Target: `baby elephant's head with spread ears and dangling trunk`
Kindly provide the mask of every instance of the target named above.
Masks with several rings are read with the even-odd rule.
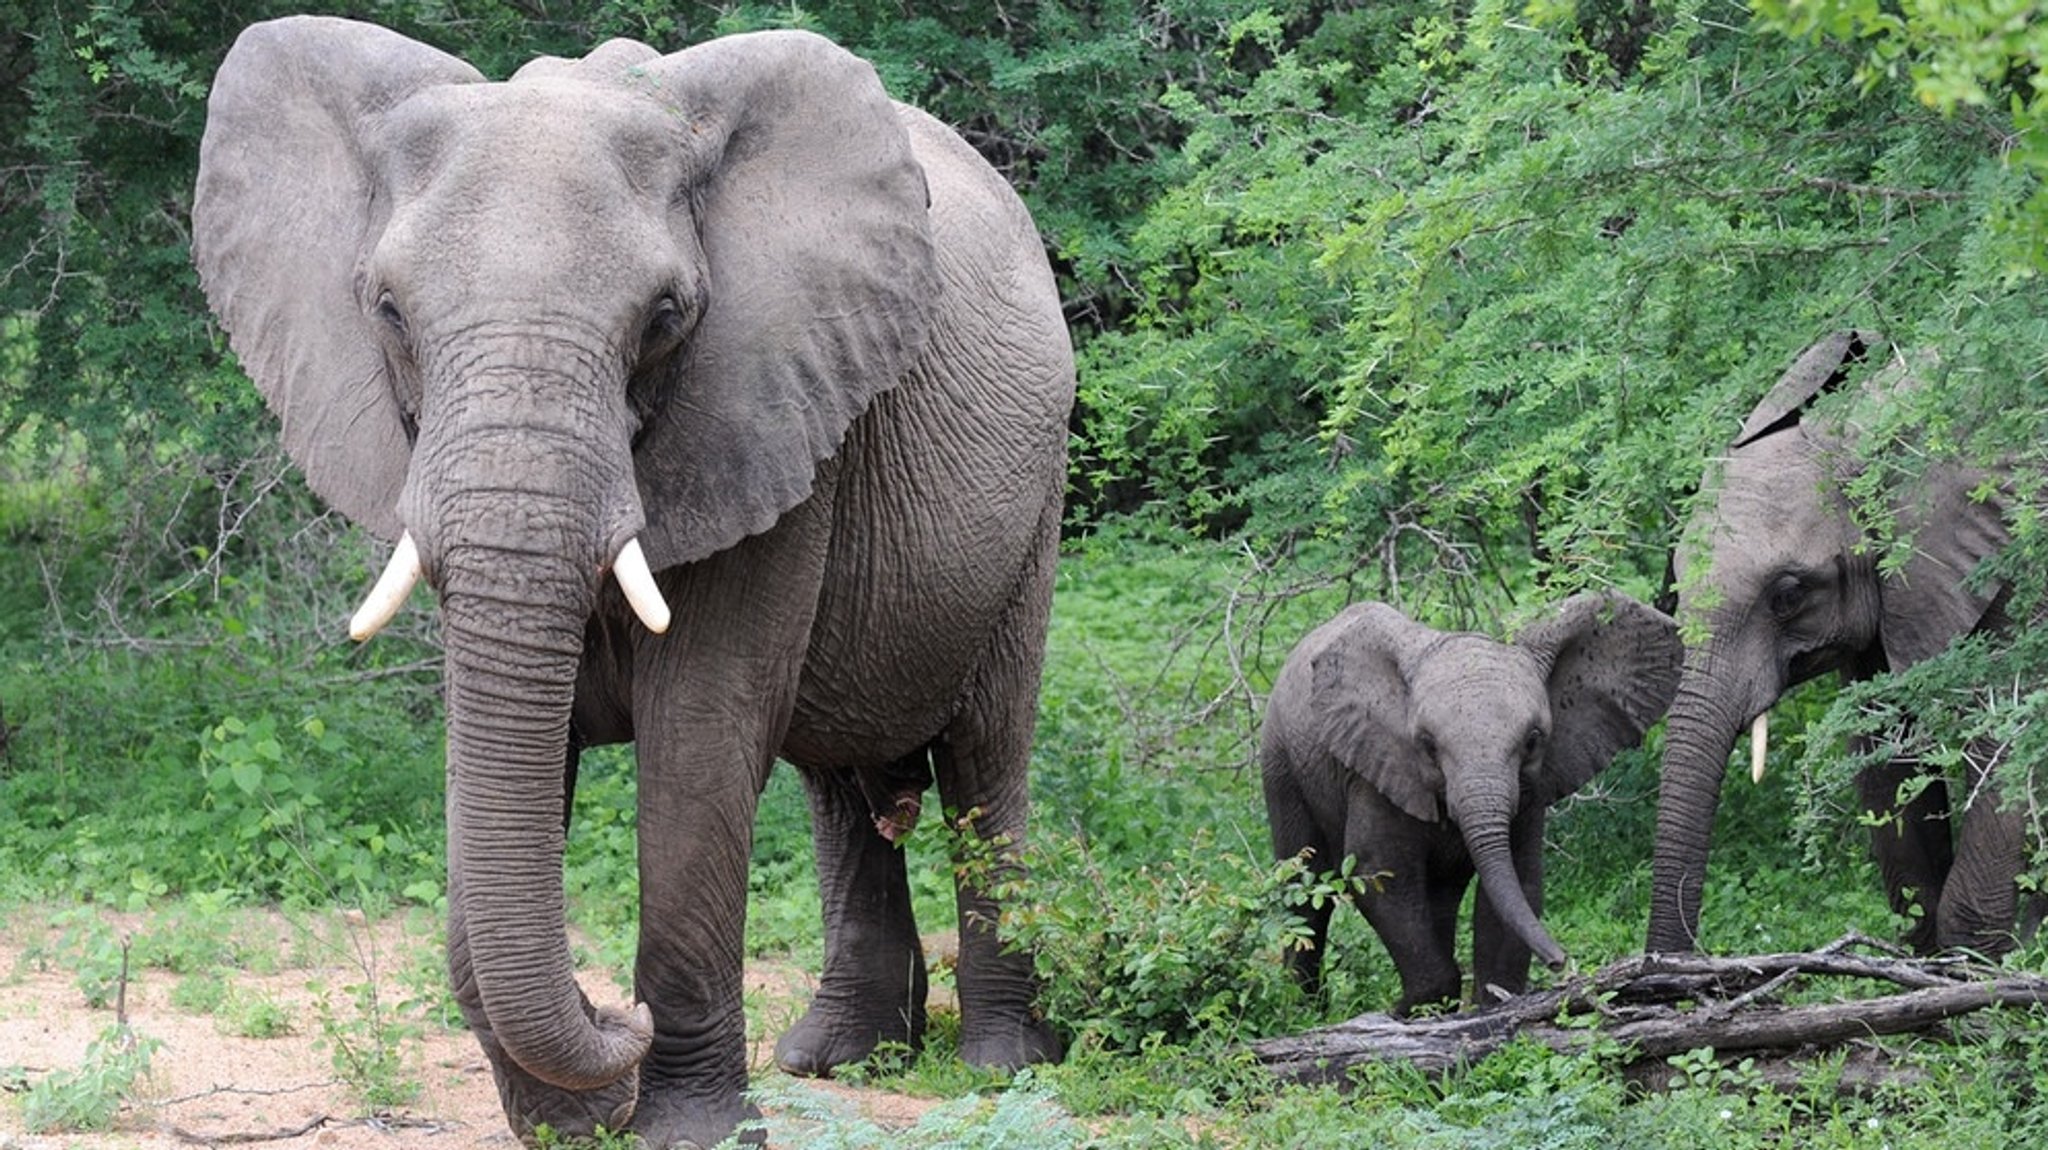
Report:
[[[1563,964],[1524,894],[1532,876],[1516,870],[1509,827],[1657,722],[1677,685],[1675,624],[1618,593],[1575,595],[1513,643],[1440,632],[1384,604],[1339,622],[1311,649],[1315,741],[1407,816],[1456,823],[1501,923]]]

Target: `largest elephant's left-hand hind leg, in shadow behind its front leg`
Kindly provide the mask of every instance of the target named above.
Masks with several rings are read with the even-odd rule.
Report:
[[[928,753],[879,771],[891,796],[930,778]],[[776,1042],[776,1064],[823,1076],[885,1042],[924,1042],[926,968],[911,915],[903,849],[874,825],[868,788],[848,771],[805,769],[817,888],[825,911],[825,972],[803,1019]]]

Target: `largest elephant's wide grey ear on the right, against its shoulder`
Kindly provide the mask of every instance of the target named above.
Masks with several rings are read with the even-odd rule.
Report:
[[[940,289],[924,170],[874,70],[811,33],[618,74],[692,149],[711,299],[635,450],[655,567],[772,526],[924,350]]]

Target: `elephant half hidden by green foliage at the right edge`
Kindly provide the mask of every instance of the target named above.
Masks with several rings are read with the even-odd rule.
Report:
[[[1860,370],[1862,368],[1862,370]],[[1821,395],[1868,374],[1847,413],[1821,415]],[[1876,336],[1841,331],[1808,348],[1743,424],[1718,491],[1675,552],[1679,620],[1706,640],[1688,649],[1665,724],[1663,782],[1651,878],[1649,949],[1698,943],[1708,837],[1737,737],[1751,728],[1757,769],[1765,714],[1794,685],[1825,671],[1862,679],[1903,669],[1954,638],[2007,626],[2007,589],[1972,571],[2005,546],[1999,499],[1974,497],[1987,475],[1931,465],[1898,493],[1896,526],[1913,552],[1896,573],[1876,565],[1882,544],[1858,526],[1843,483],[1855,471],[1853,428],[1872,403],[1913,387],[1909,360]],[[1708,473],[1716,483],[1716,473]],[[1706,561],[1706,571],[1698,565]],[[1956,808],[1933,780],[1907,804],[1901,784],[1919,765],[1896,759],[1860,776],[1878,816],[1872,847],[1898,913],[1917,913],[1919,949],[1966,945],[1999,954],[2013,943],[2021,816],[1978,794]],[[1976,794],[1982,778],[1968,780]],[[1913,790],[1913,788],[1907,788]]]

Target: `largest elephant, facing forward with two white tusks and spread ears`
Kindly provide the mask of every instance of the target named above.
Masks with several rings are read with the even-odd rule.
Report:
[[[1001,178],[815,35],[612,41],[494,84],[307,16],[219,70],[193,248],[313,489],[399,540],[352,630],[420,575],[438,593],[449,968],[512,1127],[670,1146],[741,1119],[778,755],[825,906],[780,1060],[915,1042],[924,960],[877,827],[936,769],[1022,841],[1065,483],[1073,358]],[[641,1003],[596,1009],[563,935],[563,767],[629,739]],[[1057,1056],[987,890],[958,906],[965,1058]]]

